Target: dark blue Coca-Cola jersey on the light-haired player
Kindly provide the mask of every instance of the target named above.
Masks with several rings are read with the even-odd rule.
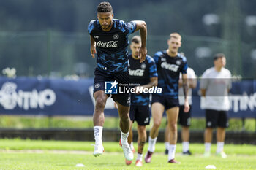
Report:
[[[178,98],[179,74],[187,74],[187,58],[180,53],[170,57],[166,50],[157,52],[153,58],[157,64],[157,86],[162,88],[162,93],[157,95]]]

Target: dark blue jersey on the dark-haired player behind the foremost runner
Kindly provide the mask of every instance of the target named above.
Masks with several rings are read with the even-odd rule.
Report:
[[[129,59],[129,80],[132,84],[146,85],[151,77],[157,77],[157,66],[154,59],[146,55],[146,60],[140,60],[128,56]],[[131,105],[148,106],[149,93],[131,94]]]

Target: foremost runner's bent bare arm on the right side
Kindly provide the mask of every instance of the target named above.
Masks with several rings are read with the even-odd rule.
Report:
[[[140,55],[140,63],[145,61],[147,55],[147,48],[146,48],[146,39],[147,39],[147,25],[143,20],[133,20],[136,23],[136,30],[140,30],[140,37],[141,37],[141,47],[139,51]]]

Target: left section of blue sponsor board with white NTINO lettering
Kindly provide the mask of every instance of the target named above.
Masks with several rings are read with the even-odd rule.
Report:
[[[92,90],[93,79],[0,77],[0,114],[91,116],[94,112]],[[105,114],[118,115],[115,109],[106,109]]]

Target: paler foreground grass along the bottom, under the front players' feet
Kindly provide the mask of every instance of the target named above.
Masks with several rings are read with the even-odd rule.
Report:
[[[217,169],[256,169],[256,156],[229,155],[222,159],[212,156],[203,158],[201,155],[184,157],[176,156],[179,165],[167,163],[167,156],[156,154],[151,163],[143,163],[138,168],[134,163],[130,166],[124,164],[122,153],[104,153],[98,158],[91,154],[35,154],[35,153],[1,153],[1,169],[205,169],[214,165]],[[75,167],[83,163],[85,167]]]

